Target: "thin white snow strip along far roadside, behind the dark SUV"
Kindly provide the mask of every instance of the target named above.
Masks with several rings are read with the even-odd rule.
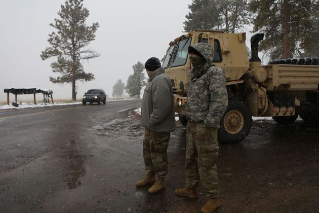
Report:
[[[134,99],[114,99],[114,100],[106,100],[107,102],[111,101],[120,101],[120,100],[134,100]],[[19,107],[14,107],[12,103],[10,105],[2,105],[0,106],[0,110],[9,110],[9,109],[26,109],[26,108],[38,108],[38,107],[53,107],[53,106],[61,106],[61,105],[74,105],[74,104],[82,104],[82,102],[71,102],[71,103],[65,103],[65,102],[55,102],[53,103],[27,103],[22,102],[19,104]]]

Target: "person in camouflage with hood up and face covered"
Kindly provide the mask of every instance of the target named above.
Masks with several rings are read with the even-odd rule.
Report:
[[[226,111],[228,95],[223,70],[212,65],[214,48],[206,43],[189,47],[193,66],[189,70],[187,85],[186,126],[186,188],[175,192],[196,198],[196,187],[201,181],[206,189],[208,202],[202,212],[213,212],[219,205],[217,180],[219,121]]]

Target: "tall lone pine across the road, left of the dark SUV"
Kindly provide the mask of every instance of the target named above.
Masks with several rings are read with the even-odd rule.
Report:
[[[82,60],[98,57],[99,54],[87,48],[90,42],[95,40],[95,32],[99,24],[86,24],[89,17],[88,9],[83,7],[83,0],[68,0],[61,5],[58,12],[59,19],[50,26],[56,31],[49,34],[50,47],[42,51],[41,58],[46,60],[55,57],[56,61],[51,63],[52,71],[60,73],[57,78],[50,77],[53,83],[71,83],[72,99],[76,100],[76,81],[94,80],[92,73],[85,73]]]

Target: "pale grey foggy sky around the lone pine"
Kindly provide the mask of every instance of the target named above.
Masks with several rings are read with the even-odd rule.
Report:
[[[49,26],[65,0],[0,1],[0,101],[6,101],[5,88],[52,89],[54,99],[71,99],[71,84],[53,84],[49,76],[53,58],[43,61],[41,51],[49,46]],[[90,88],[109,95],[118,79],[126,84],[132,66],[149,57],[162,58],[170,41],[183,33],[183,21],[192,0],[86,0],[88,23],[98,22],[96,40],[89,47],[100,57],[84,61],[85,72],[95,75],[91,82],[77,82],[77,98]],[[25,96],[25,97],[24,97]],[[31,95],[19,95],[32,100]],[[41,94],[37,95],[41,98]],[[10,101],[14,95],[10,95]]]

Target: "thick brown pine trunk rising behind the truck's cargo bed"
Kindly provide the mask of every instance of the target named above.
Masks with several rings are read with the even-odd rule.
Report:
[[[284,0],[284,10],[283,10],[283,57],[284,58],[292,58],[292,53],[290,50],[290,13],[291,8],[289,5],[289,0]]]

